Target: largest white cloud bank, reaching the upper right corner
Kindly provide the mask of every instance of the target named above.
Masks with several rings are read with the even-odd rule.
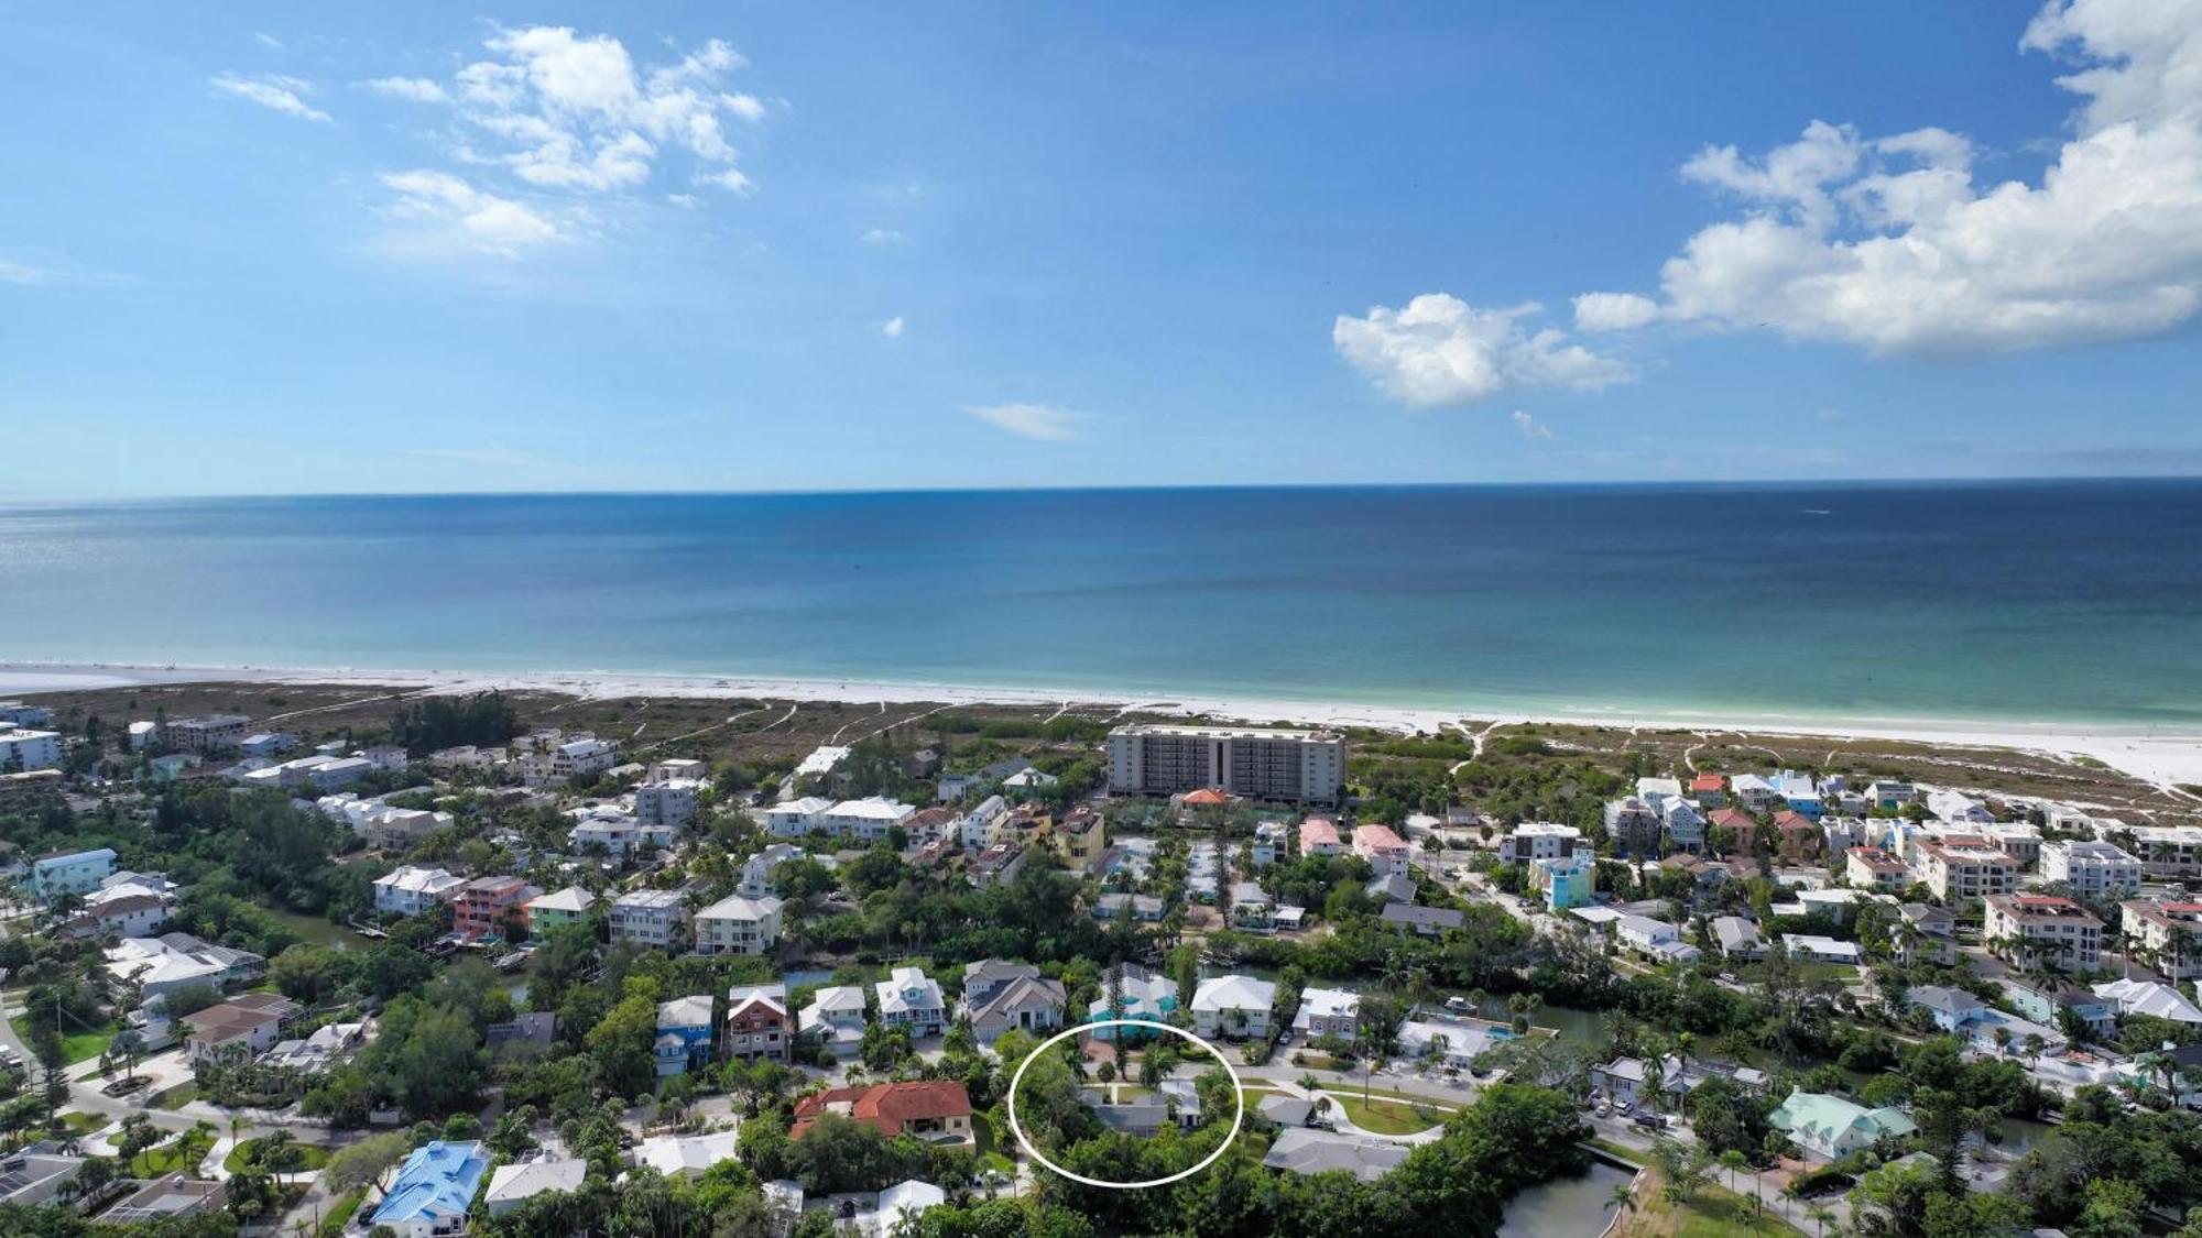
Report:
[[[1577,297],[1585,328],[1770,326],[1878,355],[1986,355],[2165,330],[2202,306],[2202,0],[2050,0],[2026,51],[2068,55],[2074,132],[2039,183],[1973,181],[1962,134],[1812,121],[1682,174],[1740,196],[1649,297]],[[1588,306],[1588,317],[1585,317]]]

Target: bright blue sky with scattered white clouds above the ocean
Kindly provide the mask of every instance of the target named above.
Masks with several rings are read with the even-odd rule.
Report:
[[[0,498],[2202,474],[2202,2],[1341,9],[0,2]]]

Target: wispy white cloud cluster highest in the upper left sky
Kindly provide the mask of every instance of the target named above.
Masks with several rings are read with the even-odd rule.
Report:
[[[495,59],[467,64],[449,88],[438,86],[480,130],[482,150],[469,145],[476,159],[531,185],[599,194],[645,183],[667,150],[685,150],[698,163],[696,183],[738,194],[753,187],[720,119],[757,121],[764,104],[720,90],[744,64],[724,42],[647,70],[617,37],[573,26],[498,29],[482,46]],[[383,82],[414,88],[412,79]]]

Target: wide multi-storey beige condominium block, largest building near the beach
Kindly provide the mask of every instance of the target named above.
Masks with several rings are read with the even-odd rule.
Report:
[[[1345,738],[1337,731],[1132,723],[1108,734],[1108,789],[1176,795],[1222,786],[1251,800],[1337,804]]]

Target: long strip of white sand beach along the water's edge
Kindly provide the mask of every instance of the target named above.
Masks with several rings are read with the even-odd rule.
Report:
[[[148,663],[15,663],[0,661],[0,694],[88,692],[163,683],[319,683],[390,685],[434,694],[482,689],[557,692],[581,698],[617,696],[760,696],[777,701],[839,701],[850,705],[1103,705],[1119,712],[1231,718],[1249,723],[1293,723],[1315,727],[1374,727],[1387,731],[1438,731],[1462,723],[1486,725],[1583,725],[1654,731],[1704,731],[1746,736],[1810,736],[1830,740],[1896,740],[1951,747],[1988,747],[2070,760],[2099,760],[2121,773],[2171,789],[2202,782],[2202,731],[2140,725],[2083,723],[1993,723],[1964,718],[1784,718],[1711,716],[1660,712],[1566,712],[1508,707],[1409,707],[1352,705],[1337,701],[1288,701],[1262,696],[1158,696],[1110,689],[971,687],[947,683],[771,678],[738,674],[636,674],[636,672],[467,672],[399,667],[264,667],[264,665],[148,665]]]

